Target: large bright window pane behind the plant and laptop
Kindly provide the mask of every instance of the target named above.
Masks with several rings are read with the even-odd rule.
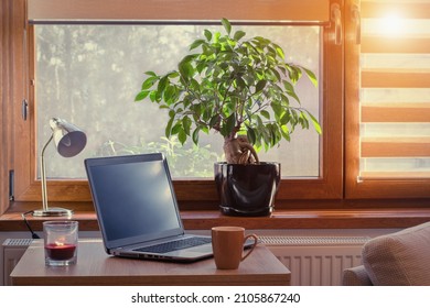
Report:
[[[87,133],[78,156],[63,158],[45,152],[51,178],[84,178],[83,160],[100,155],[164,152],[175,178],[213,177],[213,162],[223,161],[219,135],[201,135],[200,148],[190,141],[164,138],[168,114],[158,106],[133,102],[143,73],[176,68],[189,45],[207,25],[35,25],[37,153],[49,139],[49,119],[63,118]],[[214,26],[215,28],[215,26]],[[284,48],[289,61],[320,74],[318,26],[243,26],[247,36],[267,36]],[[223,31],[219,29],[219,31]],[[320,80],[320,85],[322,80]],[[303,107],[318,117],[319,89],[303,79],[298,85]],[[319,135],[297,130],[292,142],[260,153],[278,161],[282,175],[319,176]]]

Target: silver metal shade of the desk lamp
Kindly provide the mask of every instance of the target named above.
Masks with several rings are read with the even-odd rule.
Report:
[[[87,136],[77,127],[57,118],[52,118],[50,125],[60,155],[73,157],[84,150],[87,144]]]

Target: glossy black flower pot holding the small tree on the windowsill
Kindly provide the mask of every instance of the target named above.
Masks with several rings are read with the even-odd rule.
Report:
[[[215,163],[219,209],[227,216],[269,216],[281,178],[279,163],[238,165]]]

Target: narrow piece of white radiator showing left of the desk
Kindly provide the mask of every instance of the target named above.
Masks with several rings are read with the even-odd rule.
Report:
[[[10,286],[10,273],[24,254],[32,239],[7,239],[2,245],[3,254],[3,285]]]

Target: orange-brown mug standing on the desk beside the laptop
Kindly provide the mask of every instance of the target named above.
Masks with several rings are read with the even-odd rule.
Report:
[[[245,242],[252,238],[254,244],[244,255]],[[247,258],[258,242],[256,234],[245,235],[241,227],[214,227],[212,228],[212,248],[216,268],[236,270],[239,263]]]

